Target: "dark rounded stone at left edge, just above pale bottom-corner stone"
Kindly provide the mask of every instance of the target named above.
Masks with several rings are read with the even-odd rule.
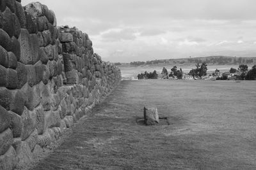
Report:
[[[12,130],[10,128],[0,133],[0,155],[3,155],[8,151],[12,145],[13,137]]]

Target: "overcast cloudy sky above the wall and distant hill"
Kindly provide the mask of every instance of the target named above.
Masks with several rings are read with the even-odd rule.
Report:
[[[22,0],[22,6],[31,3]],[[110,62],[256,57],[255,0],[42,0]]]

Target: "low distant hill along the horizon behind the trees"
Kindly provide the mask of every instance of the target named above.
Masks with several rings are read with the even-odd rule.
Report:
[[[127,63],[116,63],[116,65],[130,65],[130,66],[146,66],[146,65],[184,65],[189,66],[196,63],[206,62],[209,65],[237,65],[237,64],[256,64],[256,57],[228,57],[228,56],[208,56],[208,57],[195,57],[184,59],[161,59],[149,61],[134,61]]]

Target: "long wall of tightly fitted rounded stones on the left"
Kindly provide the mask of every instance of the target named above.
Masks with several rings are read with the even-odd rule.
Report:
[[[32,161],[120,80],[47,6],[0,0],[0,169]]]

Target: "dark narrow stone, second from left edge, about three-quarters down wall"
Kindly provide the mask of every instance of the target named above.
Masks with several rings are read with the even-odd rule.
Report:
[[[13,138],[19,138],[22,129],[22,118],[13,111],[8,111],[8,113],[11,118],[10,129],[12,129]]]

